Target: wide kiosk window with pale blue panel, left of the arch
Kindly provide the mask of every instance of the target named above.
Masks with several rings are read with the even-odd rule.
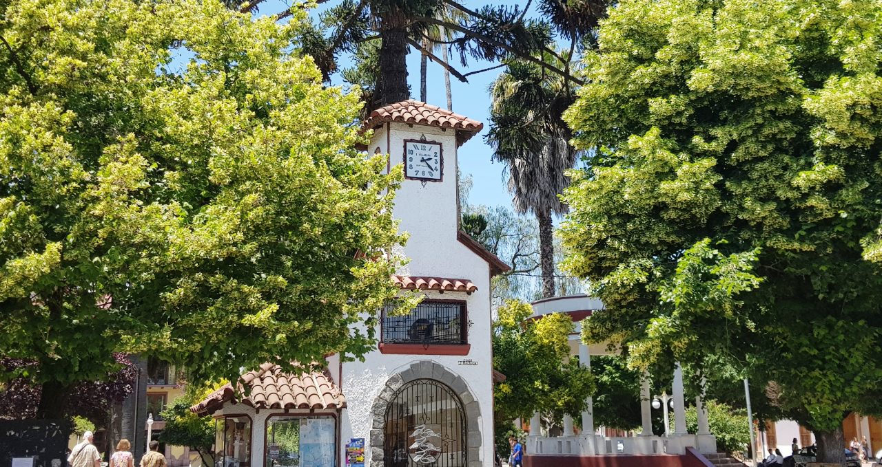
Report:
[[[336,467],[337,419],[273,416],[266,420],[265,467]]]

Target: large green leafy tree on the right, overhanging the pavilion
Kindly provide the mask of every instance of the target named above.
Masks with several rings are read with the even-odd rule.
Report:
[[[584,337],[696,378],[725,357],[823,462],[849,412],[882,411],[880,15],[626,0],[565,115],[591,167],[565,196],[567,267],[607,307]]]

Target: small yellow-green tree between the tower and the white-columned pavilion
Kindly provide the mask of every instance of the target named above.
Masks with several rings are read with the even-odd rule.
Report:
[[[533,308],[517,300],[497,310],[493,367],[507,376],[494,392],[497,425],[527,419],[534,411],[578,416],[594,392],[587,367],[569,358],[570,317],[553,314],[527,321],[532,313]]]

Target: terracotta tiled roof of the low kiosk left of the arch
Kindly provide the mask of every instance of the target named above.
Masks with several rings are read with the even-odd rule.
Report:
[[[290,374],[278,365],[265,363],[257,371],[250,371],[240,378],[240,391],[244,385],[250,387],[248,397],[238,401],[256,409],[338,409],[346,407],[346,397],[334,384],[331,374],[323,373]],[[200,415],[213,413],[224,403],[233,400],[234,391],[230,384],[209,394],[190,410]]]

